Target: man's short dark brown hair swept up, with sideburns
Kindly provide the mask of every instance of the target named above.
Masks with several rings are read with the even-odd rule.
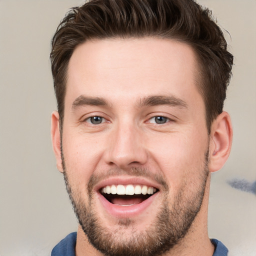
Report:
[[[179,40],[193,48],[210,132],[212,120],[222,112],[233,56],[211,11],[193,0],[89,0],[72,8],[57,27],[50,53],[60,127],[67,65],[75,47],[90,39],[146,36]]]

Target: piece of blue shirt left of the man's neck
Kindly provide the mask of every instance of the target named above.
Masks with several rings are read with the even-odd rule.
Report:
[[[76,232],[68,234],[51,251],[51,256],[75,256]]]

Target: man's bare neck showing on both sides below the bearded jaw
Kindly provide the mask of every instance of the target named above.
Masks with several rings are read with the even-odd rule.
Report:
[[[186,235],[165,256],[212,256],[214,246],[210,242],[207,230],[207,210],[210,186],[210,174],[208,176],[201,208],[197,213]],[[81,226],[78,226],[75,255],[103,256],[88,241]]]

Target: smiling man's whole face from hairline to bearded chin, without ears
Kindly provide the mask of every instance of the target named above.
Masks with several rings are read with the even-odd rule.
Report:
[[[89,241],[109,255],[168,250],[198,212],[208,175],[192,49],[167,39],[87,41],[67,74],[62,165]]]

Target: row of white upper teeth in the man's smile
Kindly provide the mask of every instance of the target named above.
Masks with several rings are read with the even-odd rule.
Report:
[[[153,194],[156,188],[146,185],[107,185],[102,187],[101,192],[107,194]]]

